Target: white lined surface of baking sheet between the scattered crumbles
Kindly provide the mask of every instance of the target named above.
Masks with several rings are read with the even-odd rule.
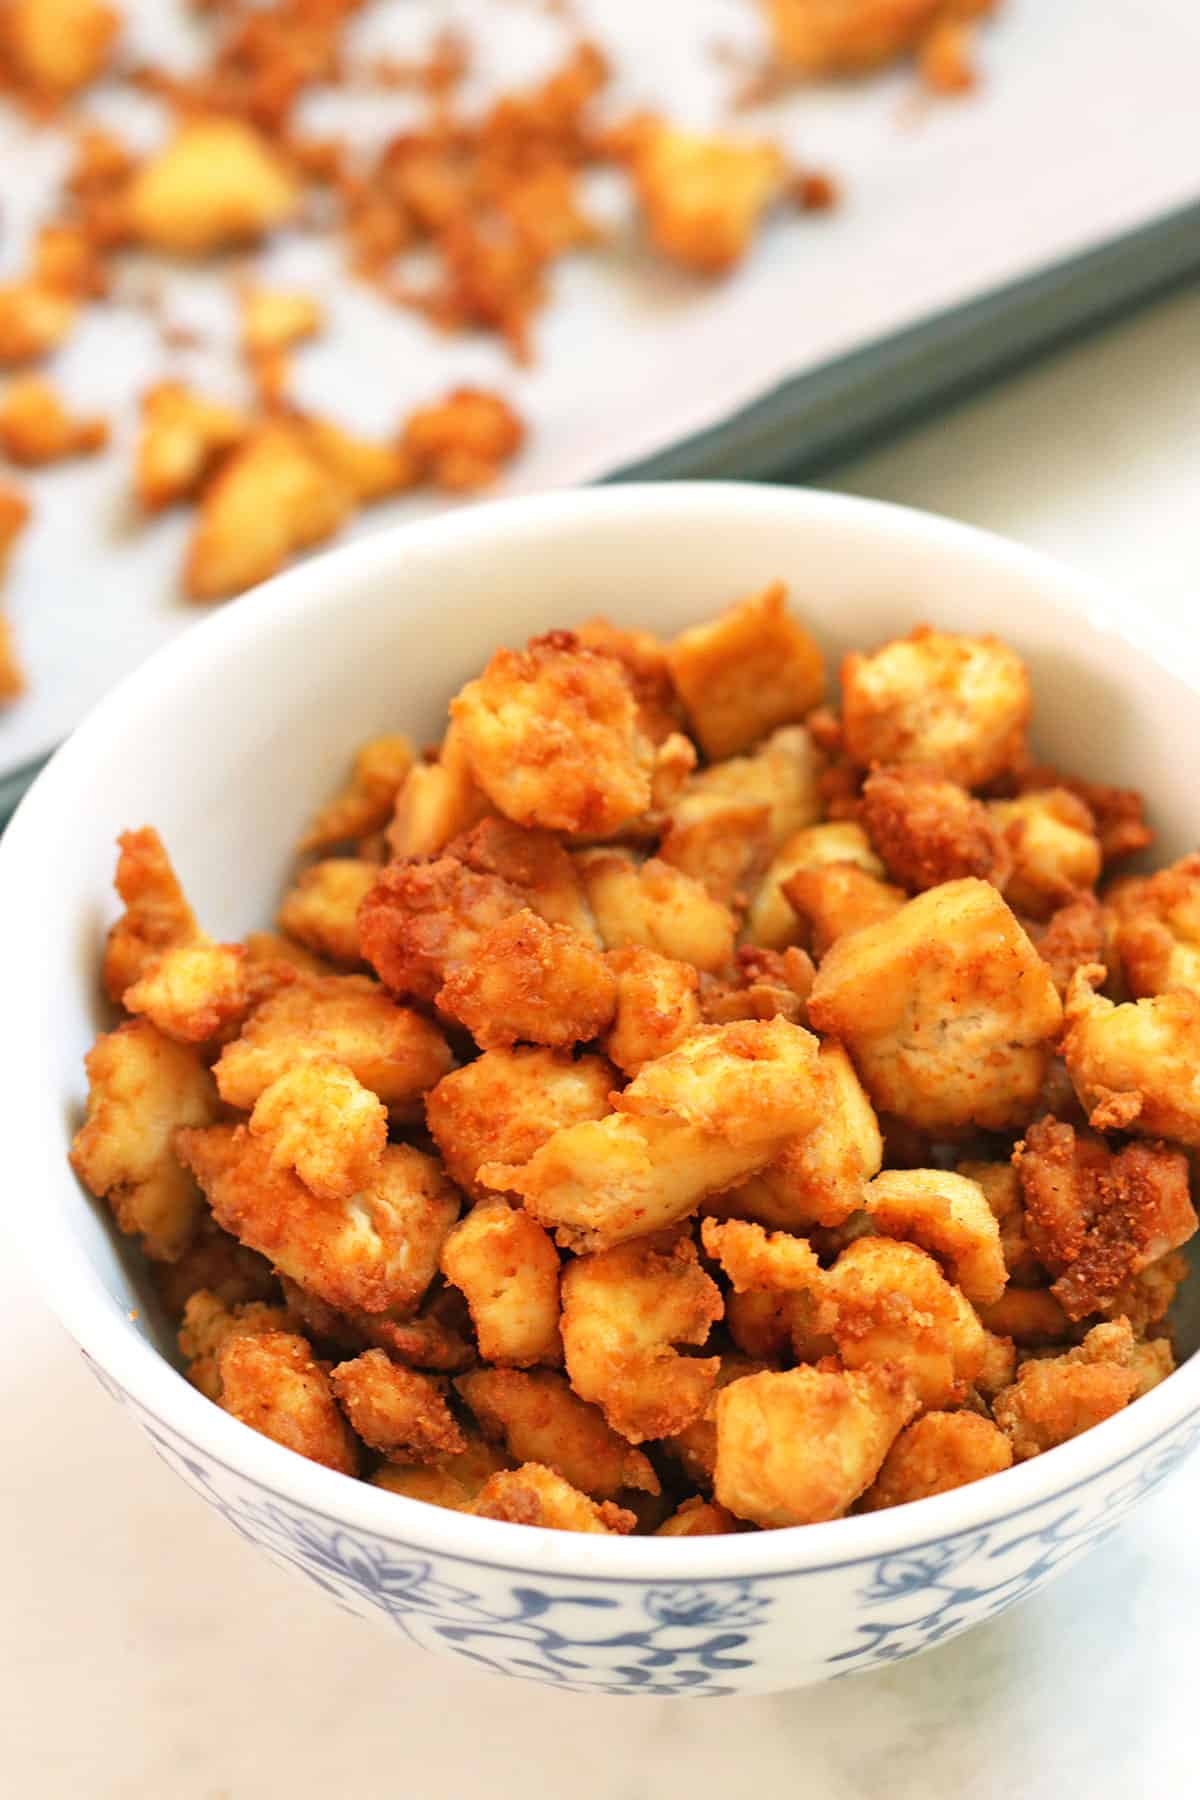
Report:
[[[126,0],[124,11],[139,56],[187,67],[200,27],[180,0]],[[761,43],[752,0],[581,0],[576,14],[612,52],[617,108],[655,106],[694,124],[727,112],[738,76],[725,52],[748,58]],[[480,97],[536,77],[567,41],[565,27],[533,0],[378,0],[354,27],[351,56],[365,63],[380,50],[416,52],[448,23],[477,43]],[[648,459],[671,473],[703,468],[705,455],[711,466],[723,421],[745,418],[748,407],[752,418],[763,396],[905,333],[921,335],[925,380],[936,385],[939,365],[954,362],[954,320],[970,315],[963,308],[975,308],[984,337],[993,328],[1002,335],[1004,315],[988,311],[988,295],[1027,288],[1031,270],[1097,250],[1200,198],[1200,18],[1191,0],[1007,0],[981,56],[982,86],[964,101],[925,99],[910,70],[896,70],[743,115],[738,128],[768,131],[799,162],[835,173],[844,205],[828,216],[781,214],[720,284],[648,257],[622,184],[597,176],[588,198],[612,241],[603,254],[560,265],[529,371],[486,338],[441,337],[349,283],[336,243],[288,234],[255,268],[320,293],[329,310],[324,340],[297,355],[295,398],[387,432],[452,383],[500,387],[531,428],[500,490],[520,493]],[[349,128],[363,146],[401,124],[408,106],[365,90],[308,104],[315,128]],[[139,144],[164,128],[157,106],[108,88],[88,110]],[[54,133],[0,119],[4,256],[13,268],[23,225],[59,167]],[[1106,277],[1099,261],[1090,266],[1083,279],[1094,302]],[[237,394],[228,275],[137,266],[126,275],[130,288],[155,279],[171,319],[203,333],[200,347],[166,351],[146,313],[103,306],[88,310],[52,362],[72,403],[112,416],[115,446],[103,459],[27,479],[34,522],[5,603],[31,693],[0,720],[0,770],[49,749],[113,680],[196,617],[176,589],[191,517],[182,509],[140,522],[128,499],[128,461],[135,396],[149,382],[178,374]],[[887,360],[882,367],[887,380]],[[775,439],[788,423],[775,407]],[[754,463],[745,443],[743,452]],[[462,502],[405,497],[362,515],[349,535],[446,504]]]

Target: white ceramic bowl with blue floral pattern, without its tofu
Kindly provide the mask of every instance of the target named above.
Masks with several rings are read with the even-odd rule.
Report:
[[[831,664],[927,619],[1029,659],[1042,756],[1144,788],[1196,835],[1182,652],[1052,563],[919,513],[795,490],[608,488],[381,533],[171,644],[59,751],[0,844],[9,1204],[108,1393],[245,1537],[345,1609],[475,1665],[612,1694],[748,1694],[909,1656],[1074,1561],[1200,1436],[1200,1357],[1074,1442],[973,1487],[831,1525],[608,1539],[464,1517],[333,1474],[191,1388],[139,1264],[67,1150],[103,1012],[113,839],[160,828],[207,929],[266,923],[291,844],[365,736],[437,734],[498,643],[592,612],[671,634],[781,576]],[[1184,1332],[1187,1350],[1200,1334]],[[169,1337],[162,1337],[167,1345]],[[47,1427],[50,1429],[50,1427]],[[56,1426],[58,1429],[58,1426]],[[86,1494],[81,1496],[86,1507]]]

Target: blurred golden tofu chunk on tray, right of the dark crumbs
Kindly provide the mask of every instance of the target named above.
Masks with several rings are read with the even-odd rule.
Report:
[[[637,122],[630,167],[651,243],[702,275],[741,261],[786,180],[775,144],[682,131],[662,119]]]

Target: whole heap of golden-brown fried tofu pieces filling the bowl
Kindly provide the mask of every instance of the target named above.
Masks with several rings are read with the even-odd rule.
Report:
[[[311,531],[300,427],[236,441],[218,481],[277,457]],[[838,713],[775,583],[497,650],[437,749],[362,745],[273,932],[214,943],[128,832],[72,1161],[196,1388],[410,1499],[691,1537],[984,1480],[1169,1375],[1200,859],[1112,878],[1141,797],[1038,769],[1033,698],[921,628]]]

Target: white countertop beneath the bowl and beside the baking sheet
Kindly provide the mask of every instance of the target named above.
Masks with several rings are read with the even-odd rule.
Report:
[[[1006,531],[1187,623],[1198,346],[1189,293],[837,486]],[[27,1204],[9,1190],[13,1217]],[[1195,1782],[1200,1458],[1058,1584],[916,1661],[768,1699],[617,1703],[464,1674],[275,1570],[155,1460],[9,1256],[0,1350],[4,1793],[1135,1800]]]

